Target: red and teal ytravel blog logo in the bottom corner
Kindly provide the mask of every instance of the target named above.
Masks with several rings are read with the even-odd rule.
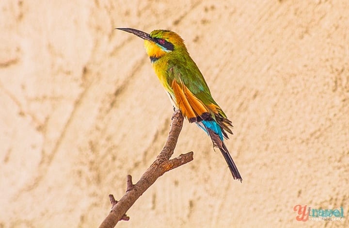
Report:
[[[307,205],[302,206],[298,204],[293,207],[293,211],[297,212],[297,221],[306,222],[308,220],[313,221],[344,221],[343,207],[340,209],[314,209]]]

